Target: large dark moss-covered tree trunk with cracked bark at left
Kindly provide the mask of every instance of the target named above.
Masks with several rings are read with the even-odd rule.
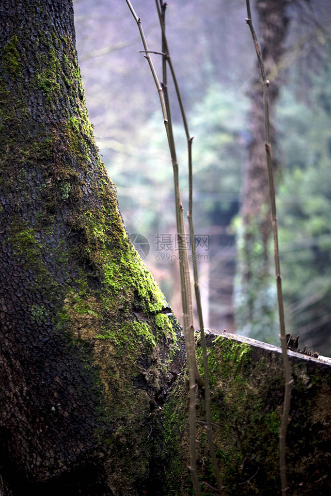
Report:
[[[2,1],[0,54],[1,476],[142,494],[178,327],[95,145],[72,2]]]

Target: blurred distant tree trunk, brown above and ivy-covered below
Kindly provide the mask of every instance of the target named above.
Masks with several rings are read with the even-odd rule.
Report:
[[[284,54],[284,41],[289,19],[289,0],[257,0],[259,37],[267,74],[271,73],[269,90],[270,113],[279,92],[277,64]],[[252,50],[254,47],[252,45]],[[251,139],[248,146],[248,167],[244,171],[241,205],[242,231],[239,235],[239,274],[236,326],[238,332],[258,339],[275,339],[276,287],[271,283],[269,240],[271,234],[270,193],[265,151],[264,104],[261,74],[256,63],[256,77],[249,91],[251,110],[248,117]],[[273,132],[272,132],[273,136]],[[273,145],[275,140],[273,140]],[[273,148],[275,150],[275,147]],[[276,172],[275,155],[273,157]]]

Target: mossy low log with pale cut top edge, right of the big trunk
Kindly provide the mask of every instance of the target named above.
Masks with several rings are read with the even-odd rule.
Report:
[[[209,371],[217,456],[227,496],[280,495],[278,431],[284,379],[280,348],[222,332],[210,334]],[[198,345],[202,366],[202,352]],[[291,496],[331,491],[331,359],[289,351],[294,385],[286,439]],[[188,378],[184,370],[159,419],[157,478],[163,496],[193,495],[188,472]],[[216,494],[198,393],[198,474],[203,495]]]

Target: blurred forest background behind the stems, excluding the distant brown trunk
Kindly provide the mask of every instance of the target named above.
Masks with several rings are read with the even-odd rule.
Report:
[[[160,51],[154,2],[135,0],[134,7],[150,49]],[[139,53],[137,27],[124,1],[74,0],[74,12],[90,121],[117,186],[124,224],[180,320],[172,168],[158,95]],[[330,355],[330,1],[288,2],[286,16],[284,56],[274,66],[269,61],[279,81],[273,121],[285,316],[287,330],[300,336],[300,347]],[[226,328],[278,344],[273,263],[267,291],[264,286],[259,292],[254,284],[248,290],[249,298],[259,301],[250,319],[240,271],[245,249],[256,260],[263,256],[262,245],[257,241],[245,247],[241,234],[243,176],[251,167],[250,87],[256,77],[245,17],[244,1],[169,1],[167,36],[194,136],[193,217],[201,241],[198,265],[206,328]],[[161,75],[161,57],[155,56],[154,62]],[[172,87],[169,91],[175,102]],[[172,118],[185,211],[186,139],[176,105]]]

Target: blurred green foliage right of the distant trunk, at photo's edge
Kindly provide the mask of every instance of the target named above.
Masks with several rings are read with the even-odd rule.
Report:
[[[282,279],[288,328],[331,354],[331,64],[314,76],[309,101],[289,89],[278,105],[286,157],[278,194]],[[286,132],[290,129],[291,132]]]

